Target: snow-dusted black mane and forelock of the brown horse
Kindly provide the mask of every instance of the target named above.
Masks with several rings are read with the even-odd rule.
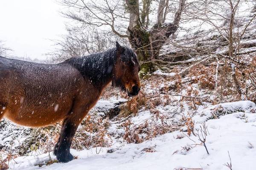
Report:
[[[134,51],[125,46],[121,48],[122,50],[119,51],[121,54],[118,54],[120,49],[111,48],[107,51],[88,56],[73,57],[65,62],[69,62],[79,70],[84,78],[88,77],[92,83],[101,87],[113,78],[113,67],[116,64],[117,55],[120,55],[120,59],[125,65],[137,65],[140,67]]]

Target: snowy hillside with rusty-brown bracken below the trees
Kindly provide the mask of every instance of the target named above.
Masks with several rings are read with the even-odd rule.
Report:
[[[253,170],[256,20],[239,43],[239,60],[230,59],[212,31],[178,34],[163,47],[158,70],[142,77],[138,96],[106,89],[73,139],[76,159],[65,164],[52,155],[60,123],[34,129],[3,119],[1,168]]]

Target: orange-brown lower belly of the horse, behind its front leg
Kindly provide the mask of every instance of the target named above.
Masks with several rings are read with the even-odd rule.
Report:
[[[72,108],[72,102],[32,102],[24,99],[17,103],[9,103],[4,117],[23,126],[41,127],[53,125],[63,120]]]

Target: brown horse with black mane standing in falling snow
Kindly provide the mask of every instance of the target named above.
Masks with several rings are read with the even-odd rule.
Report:
[[[70,145],[80,122],[112,81],[135,96],[140,65],[131,48],[116,48],[49,65],[0,57],[0,120],[41,127],[63,120],[54,154],[73,159]]]

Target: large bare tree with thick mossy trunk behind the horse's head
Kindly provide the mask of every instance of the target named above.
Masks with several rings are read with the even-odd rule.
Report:
[[[62,14],[80,27],[94,26],[128,38],[141,61],[144,72],[153,71],[160,48],[177,31],[186,0],[61,0],[68,7]],[[166,22],[173,14],[173,22]],[[174,14],[175,13],[175,14]],[[154,17],[155,16],[155,17]],[[152,24],[153,23],[153,24]]]

